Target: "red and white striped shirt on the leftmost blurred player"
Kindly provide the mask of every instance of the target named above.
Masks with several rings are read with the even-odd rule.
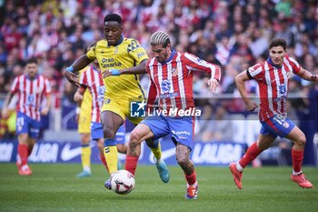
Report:
[[[18,94],[16,111],[40,121],[40,106],[44,96],[51,93],[51,86],[45,76],[37,75],[33,80],[27,75],[16,76],[11,93]]]

